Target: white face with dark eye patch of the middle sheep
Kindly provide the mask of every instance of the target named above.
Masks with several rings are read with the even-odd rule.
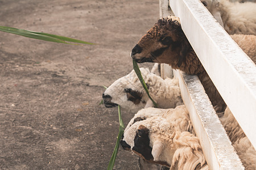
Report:
[[[143,74],[150,74],[149,70],[142,68],[141,71]],[[144,108],[148,99],[134,70],[110,85],[102,94],[102,98],[107,108],[120,105],[121,108],[133,113]]]

